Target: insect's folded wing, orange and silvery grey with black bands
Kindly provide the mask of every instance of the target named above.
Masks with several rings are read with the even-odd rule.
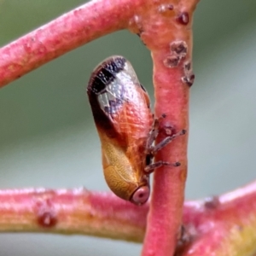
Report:
[[[148,93],[130,62],[114,56],[92,74],[88,95],[96,126],[123,146],[148,137],[153,117]]]

